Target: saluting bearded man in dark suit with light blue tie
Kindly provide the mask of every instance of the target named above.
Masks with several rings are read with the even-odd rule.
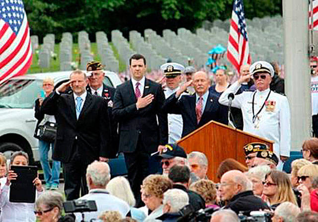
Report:
[[[42,104],[42,110],[55,115],[57,136],[53,159],[63,163],[64,191],[67,200],[87,193],[86,168],[94,160],[109,157],[109,120],[105,99],[86,92],[87,77],[77,70],[70,81],[61,84]],[[69,86],[72,94],[61,94]]]

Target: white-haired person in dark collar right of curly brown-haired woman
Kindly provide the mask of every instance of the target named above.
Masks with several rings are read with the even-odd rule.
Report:
[[[181,214],[179,211],[189,204],[188,194],[180,189],[170,189],[163,194],[163,215],[158,220],[176,222]]]

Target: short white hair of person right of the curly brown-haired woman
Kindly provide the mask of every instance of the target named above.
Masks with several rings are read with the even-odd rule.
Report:
[[[169,189],[163,194],[162,204],[169,205],[169,213],[176,213],[189,204],[189,196],[180,189]]]

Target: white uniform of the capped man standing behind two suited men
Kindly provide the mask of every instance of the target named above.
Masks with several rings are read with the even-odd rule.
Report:
[[[168,98],[172,93],[176,92],[179,87],[174,90],[169,89],[168,87],[164,90],[165,98]],[[181,94],[182,95],[182,94]],[[179,97],[179,99],[181,96]],[[182,134],[183,121],[182,116],[179,114],[168,114],[168,143],[174,144],[181,138]]]

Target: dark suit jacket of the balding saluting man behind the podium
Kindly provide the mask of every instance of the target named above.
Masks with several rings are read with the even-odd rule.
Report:
[[[164,101],[162,109],[167,113],[181,114],[183,120],[182,137],[211,120],[228,124],[226,107],[221,106],[218,98],[210,92],[199,123],[197,123],[197,116],[195,114],[196,94],[182,95],[179,98],[176,98],[175,93],[173,93]]]

